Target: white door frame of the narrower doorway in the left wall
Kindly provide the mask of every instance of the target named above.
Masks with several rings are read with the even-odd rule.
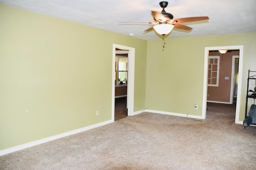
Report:
[[[135,48],[113,44],[112,61],[112,121],[115,119],[115,61],[116,49],[128,51],[128,84],[127,84],[127,108],[128,116],[134,115],[134,67],[135,67]]]

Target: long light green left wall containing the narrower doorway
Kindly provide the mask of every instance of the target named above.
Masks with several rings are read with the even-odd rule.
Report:
[[[0,150],[110,120],[113,43],[135,48],[145,108],[147,41],[3,4],[0,25]]]

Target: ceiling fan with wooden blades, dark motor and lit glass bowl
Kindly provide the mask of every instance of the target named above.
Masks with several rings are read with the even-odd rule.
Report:
[[[160,35],[163,35],[163,40],[165,38],[165,35],[170,33],[173,28],[183,29],[183,30],[187,30],[187,31],[192,30],[191,27],[182,25],[180,23],[209,20],[208,16],[173,19],[173,15],[170,13],[167,13],[164,10],[164,8],[167,7],[168,2],[162,1],[159,4],[163,8],[162,12],[151,11],[155,22],[147,22],[147,23],[155,24],[155,25],[146,29],[144,32],[147,33],[148,31],[155,29],[157,33],[159,33]],[[165,45],[165,43],[164,43],[164,45]]]

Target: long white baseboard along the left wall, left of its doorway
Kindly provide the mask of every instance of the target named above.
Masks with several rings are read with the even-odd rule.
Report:
[[[66,133],[61,133],[59,135],[55,135],[55,136],[52,136],[52,137],[47,137],[47,138],[40,139],[40,140],[37,140],[37,141],[25,143],[23,145],[19,145],[19,146],[16,146],[16,147],[0,150],[0,156],[2,156],[4,154],[11,153],[11,152],[15,152],[15,151],[18,151],[18,150],[22,150],[22,149],[26,149],[26,148],[29,148],[29,147],[33,147],[33,146],[36,146],[36,145],[39,145],[39,144],[42,144],[42,143],[46,143],[46,142],[49,142],[49,141],[53,141],[55,139],[59,139],[59,138],[66,137],[66,136],[69,136],[69,135],[74,135],[76,133],[87,131],[87,130],[90,130],[90,129],[93,129],[93,128],[96,128],[96,127],[100,127],[100,126],[103,126],[103,125],[106,125],[106,124],[109,124],[109,123],[112,123],[112,122],[113,122],[112,120],[104,121],[104,122],[101,122],[101,123],[97,123],[95,125],[90,125],[90,126],[87,126],[87,127],[76,129],[74,131],[69,131],[69,132],[66,132]]]

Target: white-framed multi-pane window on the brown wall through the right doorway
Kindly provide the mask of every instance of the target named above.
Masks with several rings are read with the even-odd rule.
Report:
[[[220,56],[208,57],[208,86],[219,86]]]

